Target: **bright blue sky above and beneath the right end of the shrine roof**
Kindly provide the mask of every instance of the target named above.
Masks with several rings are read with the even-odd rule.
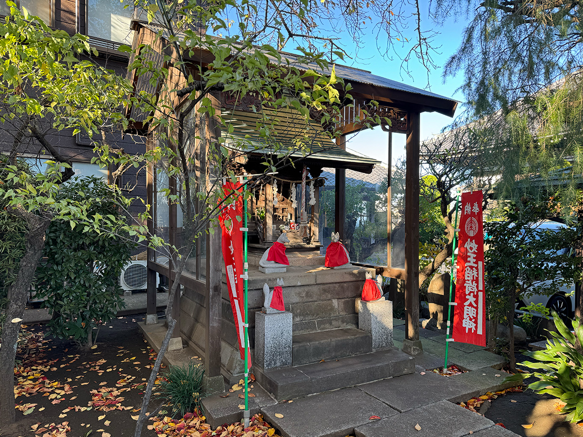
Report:
[[[407,73],[401,69],[401,59],[399,59],[398,56],[389,53],[390,57],[393,58],[391,60],[387,59],[387,56],[383,56],[378,51],[376,33],[371,34],[370,40],[366,41],[364,48],[361,48],[358,57],[354,59],[346,59],[347,62],[345,62],[345,64],[370,71],[378,76],[388,77],[389,79],[408,83],[421,89],[431,90],[433,93],[441,94],[445,97],[452,97],[463,102],[462,94],[459,91],[456,92],[456,89],[461,85],[463,73],[458,73],[455,77],[445,78],[445,83],[442,73],[445,62],[447,62],[448,58],[457,50],[461,43],[463,29],[466,26],[465,20],[458,20],[456,22],[456,20],[450,18],[443,24],[443,26],[434,26],[434,24],[427,18],[427,2],[422,0],[422,3],[425,5],[425,28],[427,29],[428,27],[433,26],[433,29],[438,32],[438,35],[434,37],[433,41],[433,45],[438,47],[438,53],[433,55],[433,61],[438,68],[432,69],[429,72],[429,86],[427,84],[427,70],[419,61],[417,61],[417,58],[412,58],[408,62],[410,75],[412,76],[409,77]],[[403,46],[401,46],[401,43],[398,41],[395,41],[399,44],[398,53],[401,54],[402,57],[409,51],[410,46],[415,44],[415,33],[413,32],[413,29],[411,29],[410,34],[410,42],[405,43]],[[342,33],[340,33],[340,36],[342,36]],[[346,38],[346,40],[347,39],[349,38]],[[352,45],[347,45],[346,50],[350,55],[353,55],[354,47]],[[456,115],[459,114],[461,110],[462,108],[460,104],[458,105]],[[445,115],[434,112],[423,113],[421,115],[421,139],[430,138],[436,133],[439,133],[442,128],[450,124],[452,121],[452,118]],[[363,131],[350,139],[347,146],[359,153],[386,162],[387,135],[388,134],[382,132],[380,128]],[[399,135],[398,137],[404,137],[404,135]],[[402,145],[399,143],[404,143],[404,139],[394,138],[394,147],[397,149],[394,150],[394,158],[395,154],[399,154],[398,150],[402,149]]]

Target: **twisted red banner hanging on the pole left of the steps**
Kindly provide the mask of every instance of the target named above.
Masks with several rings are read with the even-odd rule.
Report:
[[[227,181],[223,185],[223,195],[226,198],[231,193],[238,191],[234,195],[236,199],[229,204],[219,216],[219,224],[222,230],[222,248],[224,267],[227,272],[227,287],[231,299],[231,309],[235,319],[237,329],[237,339],[239,341],[239,353],[241,360],[245,359],[245,337],[244,337],[244,317],[245,302],[243,298],[243,279],[241,275],[245,273],[243,269],[243,231],[241,231],[241,220],[243,220],[243,196],[241,195],[240,184]],[[249,344],[249,342],[247,342]],[[248,366],[251,368],[251,355],[248,353]]]

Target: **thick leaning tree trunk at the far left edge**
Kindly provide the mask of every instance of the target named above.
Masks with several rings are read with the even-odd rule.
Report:
[[[16,281],[12,286],[12,298],[6,310],[6,322],[2,329],[0,347],[0,425],[13,423],[15,416],[14,401],[14,362],[16,358],[16,343],[20,331],[20,322],[12,323],[13,319],[22,319],[26,295],[34,279],[38,261],[43,255],[45,232],[51,223],[50,218],[37,216],[29,218],[29,230],[26,235],[26,252],[20,260]],[[12,381],[10,383],[10,381]]]

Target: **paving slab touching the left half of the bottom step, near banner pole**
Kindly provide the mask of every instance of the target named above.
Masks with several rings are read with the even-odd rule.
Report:
[[[262,408],[261,413],[284,437],[345,437],[355,427],[370,422],[372,415],[385,418],[398,414],[356,388],[303,397]]]

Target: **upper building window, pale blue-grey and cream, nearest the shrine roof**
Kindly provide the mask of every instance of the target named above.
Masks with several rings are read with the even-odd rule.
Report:
[[[132,44],[134,31],[129,29],[134,7],[124,9],[120,0],[88,0],[87,29],[89,36],[116,43]]]

